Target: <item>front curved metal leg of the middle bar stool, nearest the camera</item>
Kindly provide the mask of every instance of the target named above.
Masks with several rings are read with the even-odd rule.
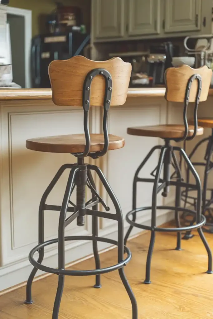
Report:
[[[151,238],[150,238],[148,255],[147,255],[147,262],[146,262],[146,279],[144,280],[144,284],[151,284],[150,269],[151,269],[152,253],[153,253],[154,244],[155,244],[155,229],[154,228],[156,227],[157,188],[158,188],[160,174],[161,174],[163,163],[164,163],[164,157],[165,157],[166,150],[167,150],[166,147],[161,148],[160,157],[159,157],[159,161],[158,161],[158,165],[157,165],[156,176],[155,176],[155,182],[154,182],[154,186],[153,186],[153,192],[152,192],[151,226],[153,227],[153,230],[151,231]]]

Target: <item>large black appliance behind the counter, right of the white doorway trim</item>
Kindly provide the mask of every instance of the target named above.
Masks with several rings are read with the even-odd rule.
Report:
[[[38,35],[32,40],[31,73],[34,88],[50,88],[48,67],[53,60],[66,60],[84,55],[90,41],[89,34],[79,32],[49,33]]]

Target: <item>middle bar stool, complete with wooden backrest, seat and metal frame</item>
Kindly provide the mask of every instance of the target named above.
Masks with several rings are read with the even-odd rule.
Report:
[[[133,209],[128,212],[126,215],[127,222],[131,225],[125,236],[125,245],[126,241],[132,231],[133,226],[147,229],[151,231],[151,239],[148,249],[147,263],[146,263],[146,278],[144,283],[150,284],[150,267],[151,267],[151,258],[155,243],[156,232],[177,232],[177,247],[176,250],[181,250],[181,232],[187,230],[197,229],[201,237],[201,240],[208,253],[208,270],[207,273],[212,273],[212,254],[209,248],[209,245],[204,237],[202,232],[202,226],[205,224],[206,219],[201,215],[201,182],[199,175],[194,169],[191,161],[189,160],[186,152],[179,146],[172,146],[171,141],[181,142],[184,140],[192,140],[196,135],[203,134],[203,128],[198,127],[197,123],[197,108],[199,101],[205,101],[209,92],[209,85],[211,80],[212,71],[208,69],[207,66],[204,66],[199,69],[192,69],[187,65],[183,65],[179,68],[169,68],[165,72],[166,80],[166,93],[165,99],[171,102],[182,102],[184,103],[183,111],[183,122],[184,125],[156,125],[156,126],[145,126],[145,127],[133,127],[128,128],[127,133],[130,135],[137,136],[149,136],[149,137],[160,137],[164,139],[164,145],[154,146],[145,159],[142,161],[141,165],[136,170],[133,180]],[[187,107],[189,102],[195,102],[194,106],[194,125],[188,126],[187,123]],[[151,173],[154,178],[139,178],[138,174],[146,164],[148,159],[151,157],[154,151],[160,150],[159,161],[156,169]],[[189,168],[189,171],[193,174],[195,179],[195,184],[187,184],[183,182],[181,169],[179,167],[179,161],[175,154],[175,151],[182,156],[185,160],[186,165]],[[176,180],[171,179],[170,168],[171,165],[175,168]],[[163,178],[161,178],[161,172],[163,170]],[[156,171],[156,173],[155,173]],[[172,174],[174,178],[174,174]],[[136,206],[136,195],[137,195],[137,183],[138,182],[152,182],[153,193],[152,193],[152,204],[149,207],[140,207]],[[160,185],[159,185],[160,183]],[[175,206],[157,206],[157,194],[163,190],[162,196],[167,197],[169,192],[169,187],[176,187],[176,198]],[[197,207],[196,211],[193,211],[188,208],[180,207],[181,199],[181,187],[190,187],[197,191]],[[163,228],[156,226],[156,211],[157,209],[166,209],[173,210],[175,212],[175,228]],[[136,213],[139,211],[151,210],[151,226],[141,225],[136,223]],[[186,212],[190,215],[196,217],[195,225],[182,227],[180,225],[179,212]],[[132,220],[130,219],[132,215]]]

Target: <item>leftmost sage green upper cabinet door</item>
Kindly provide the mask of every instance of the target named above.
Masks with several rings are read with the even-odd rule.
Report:
[[[94,0],[93,27],[95,38],[124,36],[125,0]]]

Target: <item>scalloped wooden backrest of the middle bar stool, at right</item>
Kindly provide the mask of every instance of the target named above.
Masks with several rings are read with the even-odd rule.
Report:
[[[194,74],[199,74],[202,78],[202,90],[200,95],[200,101],[206,101],[209,93],[212,70],[209,69],[206,65],[198,69],[193,69],[186,64],[182,65],[179,68],[169,68],[166,70],[165,99],[171,102],[184,102],[188,80]],[[195,102],[197,95],[197,87],[198,83],[196,80],[194,80],[190,90],[189,102]]]

